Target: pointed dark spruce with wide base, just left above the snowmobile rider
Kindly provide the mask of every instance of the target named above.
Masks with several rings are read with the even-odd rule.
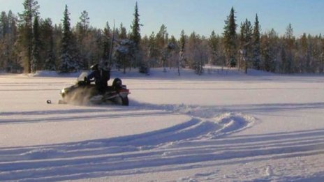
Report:
[[[66,5],[61,39],[61,56],[59,57],[59,71],[61,73],[70,73],[77,69],[75,60],[73,60],[73,35],[70,28],[70,17],[68,15],[68,6]]]

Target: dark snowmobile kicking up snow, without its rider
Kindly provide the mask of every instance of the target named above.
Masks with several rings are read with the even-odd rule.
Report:
[[[87,73],[82,73],[73,86],[61,89],[60,104],[72,103],[77,105],[116,103],[128,105],[129,90],[123,85],[121,79],[115,78],[111,86],[105,91],[98,91],[96,85],[87,81]]]

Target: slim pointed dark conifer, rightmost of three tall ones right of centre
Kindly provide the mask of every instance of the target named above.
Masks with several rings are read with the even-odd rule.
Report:
[[[260,70],[260,25],[258,14],[253,26],[253,68]]]

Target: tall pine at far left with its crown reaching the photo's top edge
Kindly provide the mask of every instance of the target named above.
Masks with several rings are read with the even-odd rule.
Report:
[[[33,20],[38,15],[38,2],[25,0],[22,3],[24,12],[20,15],[20,46],[22,49],[22,59],[24,72],[31,73],[31,59],[33,50]]]

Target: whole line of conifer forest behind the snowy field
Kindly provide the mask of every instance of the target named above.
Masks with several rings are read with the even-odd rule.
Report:
[[[11,10],[0,15],[0,70],[7,72],[35,73],[37,70],[54,70],[71,73],[88,70],[94,63],[107,62],[124,73],[139,69],[147,73],[149,68],[192,68],[200,75],[205,64],[248,68],[272,73],[323,73],[324,38],[321,34],[304,33],[293,36],[288,24],[283,36],[274,31],[261,33],[258,15],[236,22],[231,8],[226,17],[223,33],[214,31],[209,37],[196,32],[179,38],[169,36],[162,24],[159,31],[149,36],[140,35],[140,14],[135,4],[130,31],[121,23],[111,28],[97,29],[90,25],[89,15],[83,10],[80,20],[71,26],[68,6],[63,12],[61,24],[39,15],[38,2],[25,0],[24,11],[14,15]]]

